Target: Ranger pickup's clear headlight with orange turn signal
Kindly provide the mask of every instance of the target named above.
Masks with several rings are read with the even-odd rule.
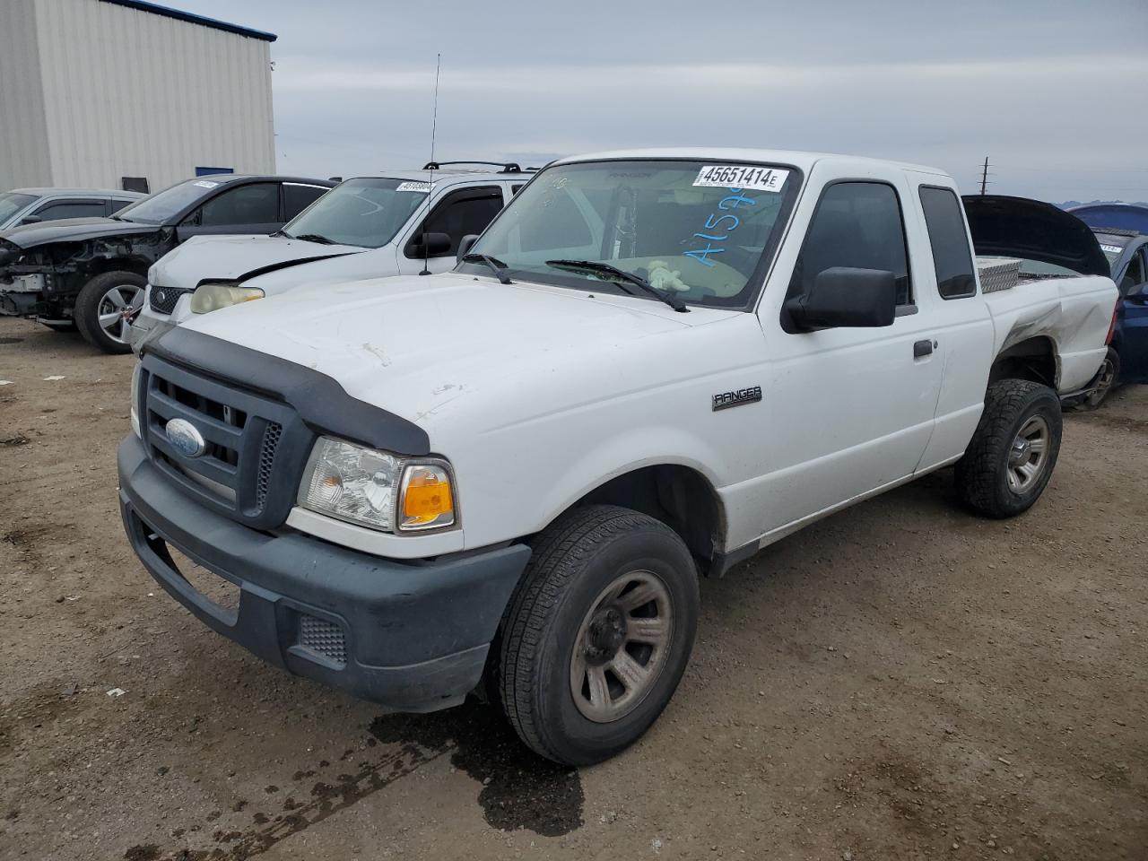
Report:
[[[320,436],[298,489],[304,509],[372,529],[410,533],[455,526],[455,487],[444,461]]]

